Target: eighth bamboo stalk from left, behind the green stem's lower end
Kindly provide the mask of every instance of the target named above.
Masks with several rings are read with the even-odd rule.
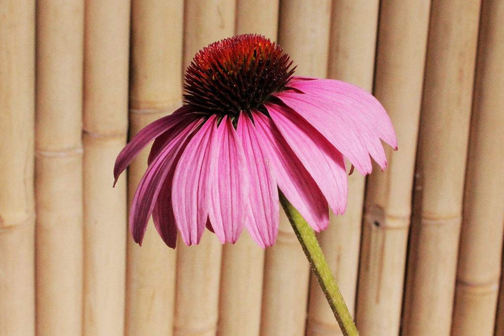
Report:
[[[377,1],[333,1],[328,77],[372,91],[378,21]],[[358,25],[355,22],[359,22]],[[348,177],[344,215],[330,214],[329,228],[317,235],[349,311],[353,314],[360,249],[365,178]],[[341,335],[317,279],[311,275],[306,334]]]

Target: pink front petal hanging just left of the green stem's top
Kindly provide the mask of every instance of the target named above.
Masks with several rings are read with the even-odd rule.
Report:
[[[251,218],[245,226],[252,239],[264,248],[275,243],[278,233],[280,204],[277,182],[263,154],[256,127],[247,115],[240,113],[236,131],[250,175]]]

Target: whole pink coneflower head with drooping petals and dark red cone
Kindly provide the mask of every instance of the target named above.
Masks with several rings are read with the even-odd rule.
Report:
[[[121,151],[115,180],[154,143],[130,213],[141,243],[152,214],[164,242],[177,230],[198,244],[205,227],[224,243],[243,227],[262,247],[275,243],[278,189],[317,232],[328,204],[345,211],[345,157],[362,174],[371,156],[387,165],[381,143],[397,149],[392,123],[366,91],[336,80],[292,76],[282,48],[259,35],[210,44],[185,75],[184,105],[154,121]]]

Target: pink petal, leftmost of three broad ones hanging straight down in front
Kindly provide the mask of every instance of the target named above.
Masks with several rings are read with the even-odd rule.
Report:
[[[173,215],[187,246],[198,244],[205,230],[217,143],[217,118],[212,115],[187,144],[175,168],[171,192]]]

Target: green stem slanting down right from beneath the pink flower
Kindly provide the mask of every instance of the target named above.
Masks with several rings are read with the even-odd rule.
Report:
[[[359,332],[355,327],[352,316],[341,296],[336,280],[327,264],[326,258],[322,253],[319,242],[315,237],[313,229],[306,223],[299,212],[290,204],[283,193],[278,190],[280,204],[282,205],[289,222],[296,233],[297,239],[303,247],[304,254],[310,262],[311,269],[319,281],[322,291],[333,310],[334,316],[340,325],[341,331],[345,336],[358,336]]]

